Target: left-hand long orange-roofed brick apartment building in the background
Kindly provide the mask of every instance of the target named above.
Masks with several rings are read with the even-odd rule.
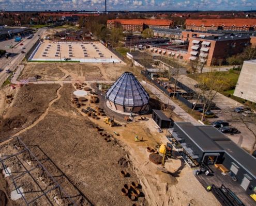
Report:
[[[120,23],[125,31],[143,31],[145,28],[171,28],[172,20],[165,19],[115,19],[108,20],[107,27],[112,29]]]

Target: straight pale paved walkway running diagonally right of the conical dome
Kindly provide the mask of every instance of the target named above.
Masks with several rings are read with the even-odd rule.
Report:
[[[194,119],[192,116],[190,116],[187,112],[185,112],[181,107],[179,107],[170,97],[168,97],[166,94],[164,94],[161,90],[159,90],[154,85],[141,81],[141,84],[146,87],[148,90],[150,90],[153,94],[155,94],[164,104],[173,106],[175,109],[173,110],[177,115],[182,117],[184,121],[191,122],[193,124],[200,124],[196,119]]]

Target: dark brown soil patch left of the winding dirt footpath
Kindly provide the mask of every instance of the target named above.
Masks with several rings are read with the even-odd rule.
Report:
[[[14,96],[13,104],[0,117],[0,140],[31,125],[56,98],[59,84],[27,84]]]

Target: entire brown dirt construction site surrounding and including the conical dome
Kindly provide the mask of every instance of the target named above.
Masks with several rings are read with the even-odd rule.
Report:
[[[3,205],[220,205],[152,119],[163,104],[139,69],[96,45],[115,62],[23,61],[1,88]]]

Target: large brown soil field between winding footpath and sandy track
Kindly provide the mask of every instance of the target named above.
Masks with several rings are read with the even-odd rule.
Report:
[[[25,144],[31,147],[37,145],[45,152],[94,205],[132,205],[128,196],[121,194],[124,184],[139,182],[129,156],[114,138],[110,138],[110,142],[104,141],[95,129],[96,125],[71,106],[73,90],[71,84],[64,84],[59,91],[61,97],[51,105],[47,115],[34,127],[21,133],[21,139]],[[47,169],[56,173],[51,164],[47,164]],[[122,177],[121,170],[129,176]],[[40,171],[35,171],[35,176],[40,175]],[[32,198],[31,190],[37,190],[37,187],[26,178],[20,183],[24,190],[29,191],[26,196]],[[64,185],[66,191],[72,191],[70,184]],[[50,194],[51,200],[53,197],[54,194]],[[144,202],[142,193],[138,203],[142,205]],[[87,204],[81,199],[77,199],[77,203]],[[43,205],[43,202],[37,205]]]

